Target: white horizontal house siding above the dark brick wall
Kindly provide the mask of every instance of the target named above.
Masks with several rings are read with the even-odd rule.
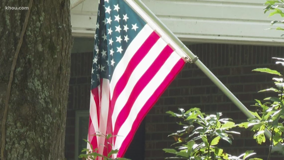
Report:
[[[270,21],[260,0],[142,0],[184,42],[283,45],[284,32],[265,30]],[[98,1],[71,10],[74,36],[94,35]],[[277,41],[277,42],[275,42]]]

